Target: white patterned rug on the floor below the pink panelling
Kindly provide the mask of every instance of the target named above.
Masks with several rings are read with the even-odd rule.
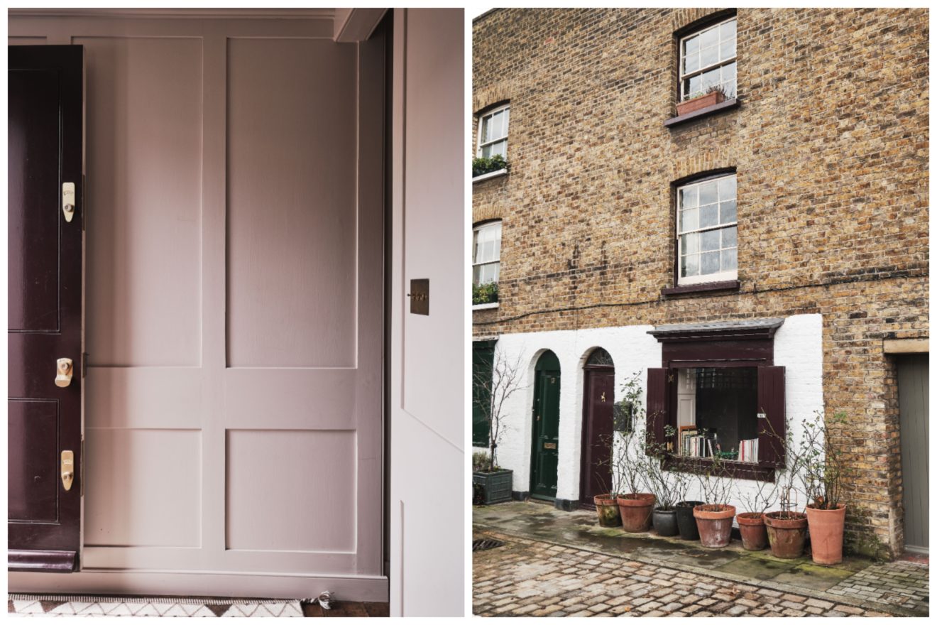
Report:
[[[7,595],[10,617],[302,617],[299,600]]]

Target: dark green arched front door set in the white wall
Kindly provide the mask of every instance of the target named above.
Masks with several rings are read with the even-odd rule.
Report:
[[[559,458],[559,359],[552,351],[543,353],[535,369],[532,441],[530,497],[554,499]]]

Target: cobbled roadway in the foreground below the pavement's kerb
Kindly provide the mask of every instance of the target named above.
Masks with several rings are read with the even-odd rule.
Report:
[[[505,543],[473,554],[472,602],[479,616],[891,616],[493,531],[476,531],[476,538]]]

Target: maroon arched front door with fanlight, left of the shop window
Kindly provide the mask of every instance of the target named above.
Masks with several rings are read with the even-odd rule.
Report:
[[[583,453],[579,470],[579,503],[595,508],[592,498],[612,487],[611,442],[614,432],[615,363],[602,348],[583,365]]]

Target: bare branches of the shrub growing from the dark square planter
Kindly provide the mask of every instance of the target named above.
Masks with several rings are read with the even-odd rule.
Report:
[[[521,384],[523,362],[523,353],[509,361],[501,350],[496,349],[491,377],[481,373],[474,375],[472,401],[488,423],[487,472],[498,469],[498,441],[508,429],[505,421],[510,416],[505,410],[505,404],[513,394],[525,388]]]

